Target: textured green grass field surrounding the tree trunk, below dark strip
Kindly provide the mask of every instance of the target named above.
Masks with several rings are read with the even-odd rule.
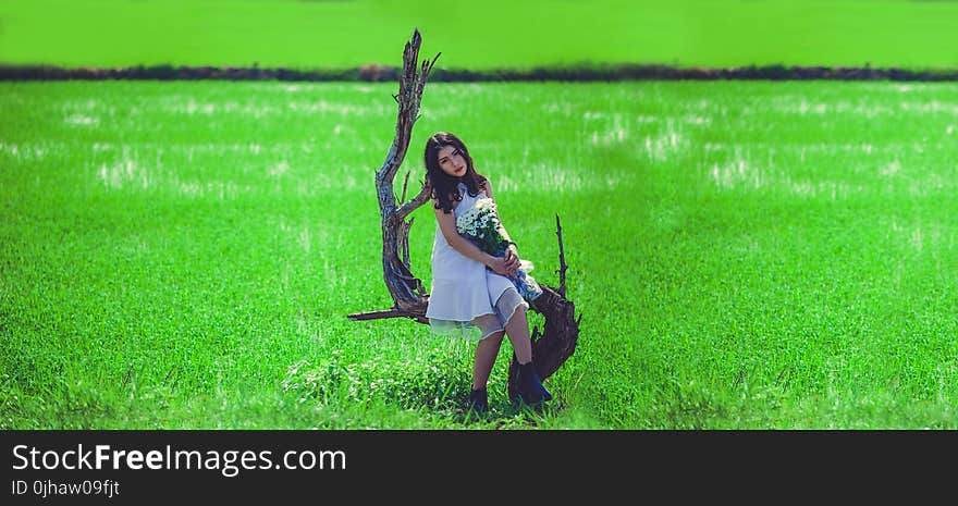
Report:
[[[456,132],[585,314],[550,409],[506,344],[471,423],[468,346],[346,319],[394,91],[0,84],[0,427],[958,428],[955,84],[429,85],[397,180]]]

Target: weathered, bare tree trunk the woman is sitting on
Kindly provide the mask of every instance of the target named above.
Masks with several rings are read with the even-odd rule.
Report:
[[[413,219],[406,221],[413,211],[429,201],[432,187],[428,181],[423,181],[422,188],[408,202],[406,189],[409,183],[409,173],[403,184],[402,198],[396,199],[393,190],[393,180],[406,151],[413,125],[418,119],[419,103],[422,100],[422,91],[426,79],[439,54],[432,61],[423,60],[421,71],[417,73],[417,60],[419,47],[422,42],[419,30],[413,33],[413,38],[406,42],[403,51],[403,75],[400,77],[400,92],[393,96],[398,104],[396,119],[396,135],[390,147],[385,161],[376,173],[376,190],[379,199],[379,210],[382,224],[382,271],[386,289],[393,299],[391,309],[348,314],[352,320],[378,320],[383,318],[410,318],[419,323],[429,323],[426,318],[426,308],[429,304],[429,294],[422,286],[422,282],[416,277],[409,263],[409,230]],[[553,289],[542,286],[543,294],[531,305],[532,309],[545,316],[545,331],[539,335],[538,328],[532,333],[532,357],[539,375],[545,380],[554,373],[565,360],[575,351],[579,335],[579,319],[575,319],[575,306],[565,299],[565,252],[562,244],[562,226],[558,217],[555,217],[556,235],[558,235],[560,248],[560,287]],[[508,392],[515,395],[516,373],[518,363],[513,357],[509,367]]]

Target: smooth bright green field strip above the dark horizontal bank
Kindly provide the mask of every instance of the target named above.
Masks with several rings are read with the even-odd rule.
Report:
[[[7,0],[0,63],[400,65],[414,27],[423,58],[441,51],[447,69],[958,69],[958,3],[909,0]]]

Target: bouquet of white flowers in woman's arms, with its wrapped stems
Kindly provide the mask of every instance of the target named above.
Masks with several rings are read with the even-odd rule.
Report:
[[[495,211],[495,202],[489,197],[476,200],[476,207],[464,212],[456,219],[456,231],[471,240],[479,249],[494,257],[502,257],[508,248],[509,242],[499,233],[499,214]],[[528,273],[532,270],[532,262],[519,260],[516,269],[516,279],[512,280],[519,295],[531,303],[542,295],[539,283]]]

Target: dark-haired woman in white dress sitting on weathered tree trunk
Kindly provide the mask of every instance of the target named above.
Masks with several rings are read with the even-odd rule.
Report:
[[[508,336],[519,362],[519,398],[527,404],[552,399],[532,363],[529,304],[511,281],[520,267],[515,243],[501,221],[500,234],[509,242],[503,257],[482,251],[456,231],[456,218],[477,200],[494,201],[492,184],[476,172],[466,145],[447,132],[427,140],[425,162],[438,224],[426,317],[437,334],[478,341],[467,409],[481,412],[489,407],[486,387],[503,335]]]

